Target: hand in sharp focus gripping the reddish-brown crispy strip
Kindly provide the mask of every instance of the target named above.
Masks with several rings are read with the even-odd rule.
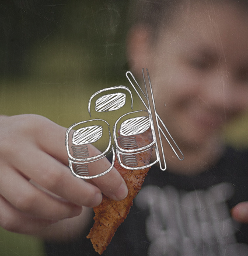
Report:
[[[59,220],[78,216],[82,206],[121,200],[127,187],[116,169],[92,180],[75,178],[68,165],[66,128],[38,115],[0,117],[0,226],[36,234]],[[92,146],[90,151],[96,152]],[[110,166],[105,159],[103,166]]]

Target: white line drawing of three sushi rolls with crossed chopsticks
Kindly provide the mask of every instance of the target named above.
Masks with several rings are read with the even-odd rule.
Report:
[[[117,159],[120,165],[125,169],[144,169],[159,162],[160,169],[165,170],[166,161],[165,154],[163,152],[161,134],[165,137],[177,158],[179,160],[183,160],[183,153],[180,151],[165,124],[156,112],[155,100],[152,93],[152,85],[148,70],[147,76],[149,86],[146,86],[144,69],[142,69],[142,74],[145,84],[145,93],[142,91],[141,87],[130,71],[126,73],[126,77],[128,78],[128,81],[130,81],[130,84],[134,88],[135,92],[138,94],[138,97],[141,99],[146,110],[128,112],[118,118],[113,127],[114,142],[112,142],[109,123],[102,119],[78,122],[71,125],[71,127],[67,129],[65,145],[67,147],[67,153],[69,156],[69,168],[71,169],[71,172],[74,176],[81,179],[92,179],[105,175],[113,168],[115,155],[117,155]],[[134,80],[134,83],[132,83],[130,76],[132,80]],[[123,93],[116,93],[116,90],[123,90]],[[141,92],[141,94],[138,92],[138,90]],[[107,94],[99,97],[99,94],[102,93]],[[97,91],[89,99],[88,112],[90,117],[92,117],[93,110],[93,112],[99,113],[119,110],[126,103],[126,93],[128,93],[131,97],[132,108],[133,98],[132,93],[128,87],[116,86]],[[92,105],[95,105],[94,109],[92,108]],[[97,124],[92,125],[92,122],[96,122]],[[74,131],[73,129],[75,127],[78,127],[78,129]],[[151,128],[152,131],[153,141],[150,144],[143,146],[142,148],[138,148],[135,135],[142,134],[149,128]],[[119,143],[117,141],[117,131],[120,132]],[[109,144],[107,145],[106,150],[97,156],[89,156],[89,144],[94,144],[95,142],[99,141],[106,132],[109,135]],[[172,142],[170,142],[166,134],[169,135],[169,139]],[[179,154],[176,152],[172,144],[174,144],[174,146],[176,146],[177,150],[180,152],[182,156],[181,158],[179,157]],[[137,166],[138,154],[144,151],[148,151],[149,149],[154,149],[156,159],[148,165]],[[104,170],[102,173],[90,175],[88,163],[99,161],[110,153],[113,154],[110,168]]]

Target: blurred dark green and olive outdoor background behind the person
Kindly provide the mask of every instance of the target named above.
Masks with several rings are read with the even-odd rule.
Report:
[[[89,119],[93,93],[128,86],[127,6],[117,0],[1,1],[0,114],[39,114],[69,127]],[[248,146],[247,124],[246,116],[230,125],[226,141]],[[41,256],[43,248],[33,237],[0,228],[0,255]]]

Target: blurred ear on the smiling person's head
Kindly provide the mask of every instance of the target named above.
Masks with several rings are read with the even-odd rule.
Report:
[[[131,71],[141,76],[143,68],[151,67],[151,30],[137,25],[130,29],[127,36],[127,60]]]

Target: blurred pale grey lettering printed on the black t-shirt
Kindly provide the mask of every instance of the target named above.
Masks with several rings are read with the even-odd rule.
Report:
[[[135,203],[148,208],[148,255],[248,255],[248,246],[236,242],[239,225],[232,220],[226,200],[233,195],[229,183],[208,190],[185,192],[173,186],[146,186]]]

